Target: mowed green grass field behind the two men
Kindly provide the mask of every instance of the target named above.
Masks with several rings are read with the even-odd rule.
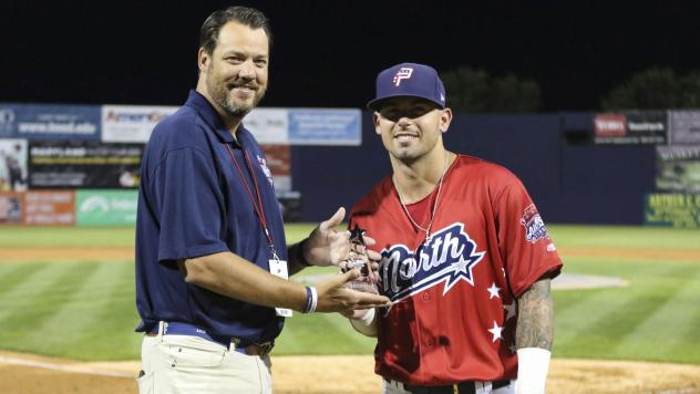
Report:
[[[311,226],[290,225],[294,242]],[[550,226],[557,246],[700,250],[700,230]],[[131,247],[132,228],[0,227],[0,249]],[[696,255],[697,256],[697,255]],[[700,364],[700,261],[565,258],[565,272],[614,276],[626,288],[554,291],[557,357]],[[696,259],[696,260],[693,260]],[[328,269],[308,269],[297,276]],[[331,270],[332,271],[332,270]],[[80,360],[133,360],[141,335],[133,261],[0,263],[0,349]],[[369,354],[373,340],[338,314],[296,313],[275,354]]]

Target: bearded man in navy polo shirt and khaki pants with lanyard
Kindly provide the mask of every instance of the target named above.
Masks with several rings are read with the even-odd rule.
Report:
[[[209,15],[196,91],[146,146],[136,226],[142,393],[270,393],[268,352],[291,309],[389,304],[343,287],[358,271],[317,288],[286,280],[306,266],[339,263],[349,235],[333,230],[340,208],[286,246],[265,155],[241,124],[267,89],[270,40],[255,9]]]

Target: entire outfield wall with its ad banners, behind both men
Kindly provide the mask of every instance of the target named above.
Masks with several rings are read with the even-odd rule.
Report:
[[[0,103],[0,224],[133,222],[135,194],[110,190],[136,190],[144,144],[174,111]],[[349,209],[391,172],[369,112],[256,108],[244,123],[289,221]],[[547,222],[700,227],[700,111],[459,114],[444,139],[515,173]]]

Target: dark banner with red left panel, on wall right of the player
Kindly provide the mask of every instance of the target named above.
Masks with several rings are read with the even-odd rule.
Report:
[[[596,144],[666,144],[666,111],[629,111],[594,117]]]

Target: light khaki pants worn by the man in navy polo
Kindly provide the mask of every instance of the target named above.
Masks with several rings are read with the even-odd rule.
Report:
[[[163,330],[158,330],[163,332]],[[145,335],[141,394],[272,393],[269,355],[246,355],[198,336]]]

